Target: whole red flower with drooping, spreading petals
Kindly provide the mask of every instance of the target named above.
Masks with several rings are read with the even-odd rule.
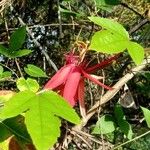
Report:
[[[69,102],[71,106],[75,106],[77,101],[84,105],[84,79],[88,78],[95,84],[102,86],[107,90],[112,90],[92,77],[89,73],[98,68],[103,68],[110,64],[112,60],[116,60],[116,56],[107,59],[100,64],[86,67],[83,61],[79,62],[79,57],[70,53],[66,55],[66,64],[46,83],[44,89],[57,90]]]

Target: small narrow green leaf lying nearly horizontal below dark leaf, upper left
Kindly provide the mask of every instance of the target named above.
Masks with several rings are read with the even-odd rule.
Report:
[[[16,58],[16,57],[22,57],[22,56],[26,56],[28,54],[32,53],[31,50],[28,50],[28,49],[22,49],[22,50],[19,50],[19,51],[15,51],[13,53],[10,53],[10,57],[11,58]]]

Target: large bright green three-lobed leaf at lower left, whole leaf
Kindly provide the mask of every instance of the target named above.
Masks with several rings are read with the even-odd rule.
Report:
[[[47,150],[57,141],[61,125],[59,117],[75,124],[80,122],[74,109],[53,91],[17,93],[6,103],[0,118],[13,117],[23,112],[27,130],[37,150]]]

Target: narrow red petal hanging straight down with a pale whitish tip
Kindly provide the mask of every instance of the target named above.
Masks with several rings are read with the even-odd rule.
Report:
[[[78,99],[79,99],[81,116],[83,118],[85,118],[86,117],[86,110],[85,110],[85,102],[84,102],[84,79],[80,79],[80,82],[79,82]]]

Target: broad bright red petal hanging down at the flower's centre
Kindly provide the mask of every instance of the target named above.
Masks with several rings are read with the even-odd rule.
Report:
[[[72,68],[65,84],[63,97],[71,106],[76,104],[76,94],[81,77],[81,69],[79,67]]]

